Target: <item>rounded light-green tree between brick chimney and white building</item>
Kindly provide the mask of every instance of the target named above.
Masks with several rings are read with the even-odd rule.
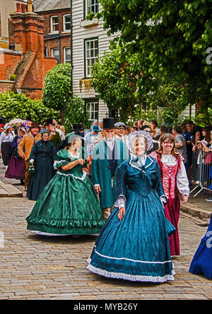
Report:
[[[58,64],[45,76],[42,102],[46,107],[61,112],[64,123],[64,111],[71,99],[71,64]]]

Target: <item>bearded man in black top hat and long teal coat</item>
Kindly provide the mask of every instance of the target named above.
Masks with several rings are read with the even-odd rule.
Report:
[[[129,153],[124,143],[115,138],[113,118],[103,119],[103,133],[103,140],[93,148],[91,170],[92,182],[106,220],[115,201],[117,168],[129,158]]]

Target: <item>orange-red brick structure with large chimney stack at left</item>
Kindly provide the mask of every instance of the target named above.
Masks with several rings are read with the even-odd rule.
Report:
[[[32,99],[42,97],[45,75],[57,65],[57,58],[45,56],[44,28],[45,20],[31,4],[16,4],[9,23],[13,50],[0,49],[0,92],[21,90]]]

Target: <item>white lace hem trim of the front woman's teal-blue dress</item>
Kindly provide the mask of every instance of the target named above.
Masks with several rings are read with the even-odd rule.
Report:
[[[94,267],[93,265],[90,265],[90,258],[88,258],[87,262],[89,264],[87,266],[87,270],[90,270],[90,272],[100,274],[101,276],[107,278],[126,279],[130,280],[131,282],[167,282],[175,280],[175,270],[172,270],[172,274],[165,274],[165,276],[163,277],[142,276],[138,274],[125,274],[124,272],[108,272],[107,270],[102,270],[100,268]]]

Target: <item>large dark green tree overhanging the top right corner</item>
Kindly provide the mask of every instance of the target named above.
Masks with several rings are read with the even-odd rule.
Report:
[[[184,87],[188,103],[212,102],[212,42],[210,1],[206,0],[100,0],[108,35],[129,55],[139,54],[146,65],[143,76]],[[91,18],[91,16],[90,16]],[[137,83],[142,92],[142,81]],[[187,95],[185,92],[187,91]]]

